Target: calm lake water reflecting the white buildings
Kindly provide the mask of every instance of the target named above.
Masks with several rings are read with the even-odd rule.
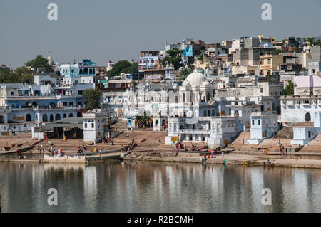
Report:
[[[320,212],[321,171],[160,162],[1,163],[4,212]],[[48,189],[58,190],[49,206]],[[272,190],[263,206],[262,189]]]

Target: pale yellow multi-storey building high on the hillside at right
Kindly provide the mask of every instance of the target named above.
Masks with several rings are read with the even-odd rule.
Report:
[[[277,70],[278,65],[284,63],[283,55],[266,54],[260,56],[260,73],[259,75],[272,75],[272,71]]]

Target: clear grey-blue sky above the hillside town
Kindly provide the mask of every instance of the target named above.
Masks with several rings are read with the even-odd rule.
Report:
[[[49,21],[49,3],[58,20]],[[272,20],[263,21],[263,3]],[[38,54],[56,63],[137,60],[184,38],[215,43],[240,36],[321,35],[321,0],[0,0],[0,65]]]

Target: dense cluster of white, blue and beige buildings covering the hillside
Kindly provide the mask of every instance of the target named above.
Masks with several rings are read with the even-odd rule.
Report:
[[[164,60],[174,49],[181,53],[179,68]],[[0,85],[0,132],[39,130],[46,122],[81,117],[83,138],[91,140],[108,130],[97,134],[96,129],[95,136],[88,136],[88,117],[94,128],[97,120],[110,123],[115,117],[136,127],[136,115],[145,114],[153,118],[153,130],[168,132],[166,144],[191,141],[224,147],[240,132],[250,131],[248,143],[259,144],[281,123],[313,122],[293,129],[292,144],[304,145],[321,132],[320,56],[320,46],[302,39],[258,36],[221,43],[166,42],[163,51],[141,51],[138,73],[117,77],[108,76],[113,62],[105,68],[90,59],[56,63],[55,74],[36,75],[32,84]],[[189,75],[183,75],[184,68],[190,69]],[[294,94],[282,95],[290,82]],[[83,93],[89,88],[103,93],[99,114],[83,110]]]

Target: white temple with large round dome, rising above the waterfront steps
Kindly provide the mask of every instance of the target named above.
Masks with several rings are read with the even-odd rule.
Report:
[[[207,142],[211,148],[223,147],[241,128],[235,117],[227,116],[230,114],[228,102],[215,102],[213,97],[213,85],[205,75],[194,70],[176,93],[168,91],[168,115],[153,115],[154,130],[161,130],[161,122],[167,121],[166,144],[191,141]]]

